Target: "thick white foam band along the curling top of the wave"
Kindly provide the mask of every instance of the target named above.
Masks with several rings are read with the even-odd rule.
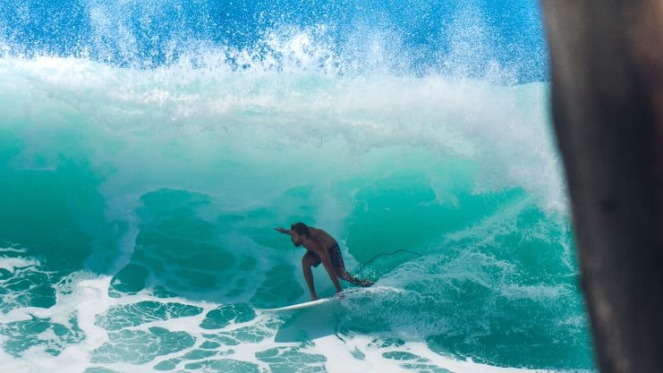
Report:
[[[4,58],[0,71],[13,87],[28,81],[48,92],[45,113],[61,103],[73,109],[98,162],[122,173],[117,182],[108,181],[109,189],[132,180],[133,191],[154,184],[212,191],[217,180],[205,175],[214,174],[209,165],[224,153],[241,155],[247,165],[274,154],[281,167],[296,166],[285,161],[295,157],[333,167],[353,164],[373,149],[408,146],[428,149],[433,159],[475,160],[481,167],[477,191],[520,186],[543,207],[565,210],[545,83],[496,86],[439,75],[233,72],[223,64],[145,71],[49,57]],[[54,119],[40,123],[45,126],[40,131],[71,125]],[[36,150],[30,149],[38,148],[44,167],[49,158],[44,153],[55,144],[29,138],[29,147],[13,163],[34,167]],[[180,157],[164,153],[166,144]],[[50,158],[55,162],[55,155]],[[143,162],[136,163],[139,158]],[[152,167],[141,166],[146,164]],[[126,193],[114,194],[126,198]]]

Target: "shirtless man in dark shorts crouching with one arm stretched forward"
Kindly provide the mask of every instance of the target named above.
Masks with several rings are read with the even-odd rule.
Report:
[[[303,223],[295,223],[290,229],[276,228],[276,231],[290,235],[294,246],[304,246],[306,254],[302,257],[302,269],[306,284],[309,285],[310,298],[312,301],[318,299],[318,294],[313,286],[313,273],[310,267],[318,267],[320,263],[327,269],[327,273],[336,286],[336,295],[340,296],[342,291],[338,279],[342,278],[350,284],[368,287],[373,283],[367,279],[360,279],[350,275],[345,270],[341,250],[338,242],[329,233],[322,229],[314,228]]]

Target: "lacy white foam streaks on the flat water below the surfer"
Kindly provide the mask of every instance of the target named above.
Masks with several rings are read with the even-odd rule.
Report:
[[[221,353],[218,358],[247,361],[255,364],[259,369],[269,371],[269,365],[265,360],[259,360],[256,353],[269,349],[281,349],[281,352],[297,351],[306,355],[321,355],[324,360],[319,363],[311,363],[309,368],[319,365],[329,373],[381,373],[389,372],[416,372],[426,367],[435,369],[448,369],[454,373],[528,373],[528,372],[564,372],[565,370],[548,369],[514,369],[501,368],[487,364],[473,362],[472,360],[459,360],[450,356],[441,355],[430,350],[427,343],[417,341],[404,341],[402,343],[390,344],[380,343],[379,337],[370,335],[335,335],[333,329],[326,334],[311,339],[302,346],[302,343],[279,343],[276,342],[276,328],[283,326],[283,320],[274,319],[274,315],[259,315],[257,318],[244,323],[231,323],[219,330],[208,330],[200,327],[200,323],[209,310],[215,309],[218,304],[207,301],[187,301],[183,299],[170,298],[158,299],[148,293],[128,295],[123,298],[110,298],[107,289],[110,282],[108,276],[91,276],[79,274],[75,276],[73,292],[58,296],[57,304],[50,309],[23,309],[25,313],[13,312],[11,316],[4,318],[3,322],[19,321],[27,319],[25,316],[36,318],[50,318],[52,322],[67,324],[70,318],[78,319],[81,331],[85,339],[79,343],[71,343],[64,347],[62,352],[53,356],[43,351],[42,348],[31,348],[24,352],[21,358],[15,358],[7,353],[0,352],[0,363],[5,369],[15,372],[30,373],[72,373],[83,372],[93,367],[106,367],[120,372],[143,373],[153,372],[158,361],[169,359],[180,359],[177,369],[184,369],[184,364],[194,362],[196,359],[187,360],[183,358],[188,352],[193,352],[206,340],[203,335],[218,332],[232,332],[242,327],[251,326],[267,333],[268,337],[255,343],[241,343],[239,345],[220,346],[217,352]],[[394,293],[402,292],[397,288],[377,286],[374,289],[360,289],[355,291],[361,293],[378,292]],[[353,292],[349,293],[346,301],[352,301]],[[151,327],[163,327],[170,332],[186,332],[196,338],[196,342],[183,351],[158,356],[145,364],[129,364],[123,361],[114,363],[95,363],[90,361],[91,354],[108,342],[108,331],[96,323],[98,316],[103,315],[108,309],[119,305],[136,304],[140,301],[175,301],[183,304],[191,304],[203,309],[196,316],[184,318],[168,318],[165,320],[152,321],[139,326],[132,326],[127,330],[148,331]],[[324,326],[322,326],[324,327]],[[328,326],[327,326],[328,327]],[[39,337],[47,340],[56,340],[57,336],[52,331],[47,331]],[[139,347],[139,346],[137,346]],[[155,346],[156,347],[156,346]],[[143,348],[143,347],[139,347]],[[294,349],[294,350],[293,350]],[[296,362],[297,360],[293,360]],[[289,360],[284,360],[287,364]],[[291,361],[292,362],[292,361]],[[196,371],[196,369],[184,369]],[[207,371],[207,370],[200,370]],[[577,370],[574,370],[577,371]]]

